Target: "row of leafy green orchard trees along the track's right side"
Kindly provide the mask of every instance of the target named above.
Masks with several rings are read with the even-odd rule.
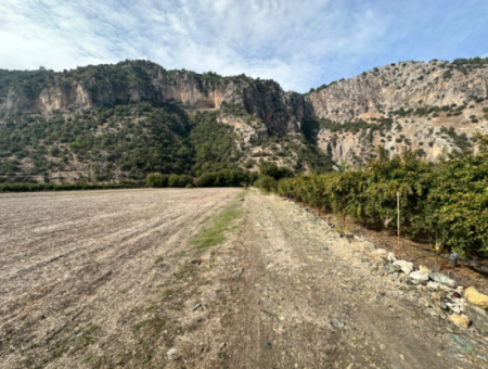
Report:
[[[391,160],[383,150],[359,169],[285,178],[270,189],[280,195],[321,205],[336,214],[383,227],[397,227],[400,193],[401,230],[462,254],[488,254],[488,136],[480,152],[436,165],[412,152]],[[343,196],[346,208],[343,211]]]

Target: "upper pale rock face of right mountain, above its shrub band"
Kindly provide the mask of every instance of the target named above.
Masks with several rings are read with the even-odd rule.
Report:
[[[488,65],[455,67],[447,62],[385,65],[309,94],[317,117],[351,120],[363,114],[420,109],[488,96]]]

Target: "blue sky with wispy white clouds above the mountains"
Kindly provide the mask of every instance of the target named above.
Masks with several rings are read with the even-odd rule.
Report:
[[[406,60],[488,56],[487,0],[2,0],[0,68],[147,59],[308,91]]]

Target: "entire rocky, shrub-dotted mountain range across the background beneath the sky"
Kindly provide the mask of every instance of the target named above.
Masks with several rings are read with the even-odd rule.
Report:
[[[256,170],[262,160],[330,170],[377,145],[435,161],[476,150],[487,96],[488,59],[396,63],[306,94],[147,61],[0,69],[0,174],[108,181]]]

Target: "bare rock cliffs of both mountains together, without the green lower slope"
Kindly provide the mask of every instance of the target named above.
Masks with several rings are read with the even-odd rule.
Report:
[[[285,92],[272,80],[166,71],[146,61],[63,73],[0,71],[0,114],[70,114],[153,100],[221,110],[219,120],[241,129],[247,147],[273,133],[303,135],[301,125],[314,119],[313,139],[336,163],[359,163],[380,144],[391,155],[420,150],[434,161],[474,145],[476,131],[488,133],[488,63],[481,62],[396,63],[308,94]],[[224,112],[234,105],[246,119]],[[388,124],[376,129],[381,122]],[[331,128],[337,123],[341,129]],[[361,129],[349,129],[355,123]]]

